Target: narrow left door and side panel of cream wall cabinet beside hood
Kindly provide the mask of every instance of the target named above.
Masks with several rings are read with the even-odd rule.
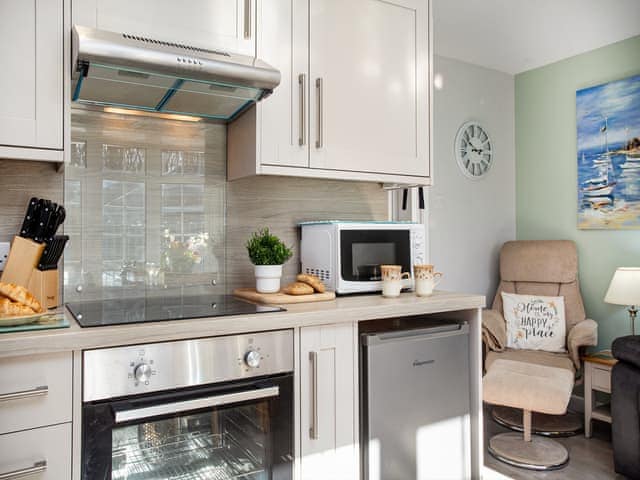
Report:
[[[230,180],[308,171],[308,19],[308,0],[258,2],[257,56],[281,79],[268,98],[228,125]]]

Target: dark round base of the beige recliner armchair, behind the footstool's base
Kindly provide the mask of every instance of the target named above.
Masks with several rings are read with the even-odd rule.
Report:
[[[522,432],[522,410],[518,408],[495,406],[491,417],[503,427]],[[545,437],[572,437],[582,430],[582,417],[575,413],[565,415],[545,415],[533,412],[531,433]]]

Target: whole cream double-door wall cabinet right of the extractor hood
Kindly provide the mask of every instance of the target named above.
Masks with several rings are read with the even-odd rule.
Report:
[[[430,1],[262,3],[257,54],[282,82],[229,125],[229,179],[430,185]]]

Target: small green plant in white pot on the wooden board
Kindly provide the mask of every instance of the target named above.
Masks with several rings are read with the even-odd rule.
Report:
[[[282,265],[293,255],[291,249],[268,228],[254,232],[246,247],[254,265],[256,290],[260,293],[279,292]]]

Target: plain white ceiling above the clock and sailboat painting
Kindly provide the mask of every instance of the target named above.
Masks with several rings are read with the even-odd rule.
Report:
[[[433,21],[436,54],[516,74],[640,35],[640,0],[433,0]]]

